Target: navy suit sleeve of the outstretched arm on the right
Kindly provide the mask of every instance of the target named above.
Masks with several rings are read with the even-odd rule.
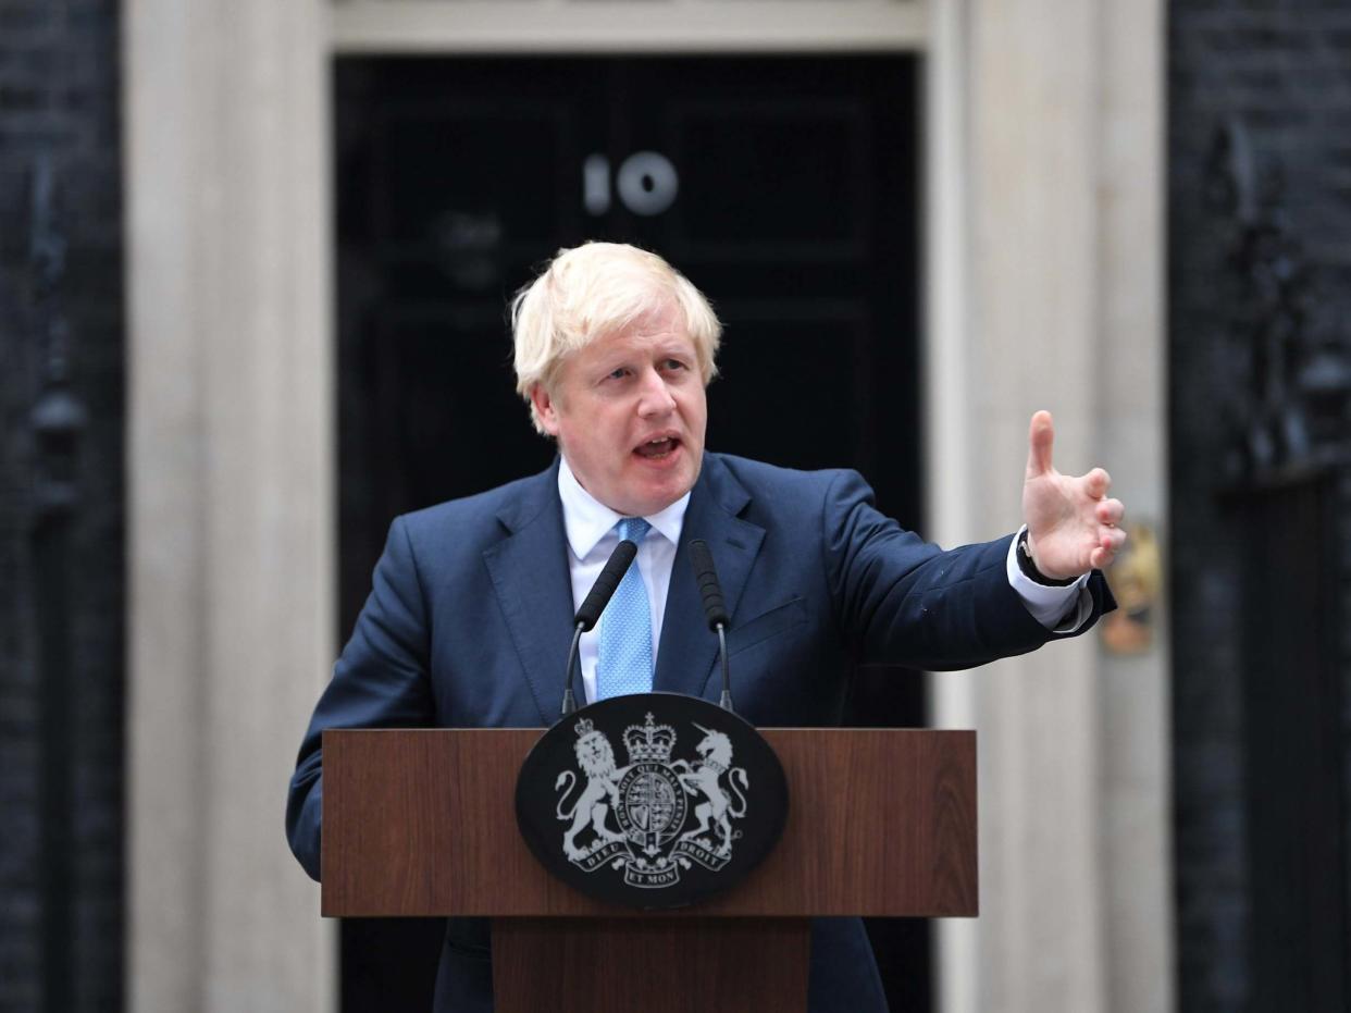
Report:
[[[861,475],[839,473],[825,493],[823,546],[836,619],[855,659],[970,669],[1061,636],[1034,619],[1009,585],[1011,540],[944,551],[880,513]],[[1092,620],[1115,606],[1101,574],[1090,578],[1089,593]]]

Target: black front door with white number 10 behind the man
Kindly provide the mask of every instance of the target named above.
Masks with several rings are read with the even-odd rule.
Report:
[[[655,250],[713,301],[711,450],[857,467],[917,527],[916,70],[904,55],[338,61],[343,635],[393,516],[553,457],[515,394],[504,307],[586,239]],[[867,674],[854,709],[923,724],[921,683]],[[871,929],[893,1009],[927,1009],[923,925]],[[426,1008],[426,936],[345,927],[343,1008]]]

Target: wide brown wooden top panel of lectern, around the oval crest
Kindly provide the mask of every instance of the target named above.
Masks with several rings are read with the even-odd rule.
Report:
[[[516,773],[540,735],[324,732],[323,913],[642,916],[555,881],[520,839]],[[763,735],[788,774],[784,839],[740,886],[659,917],[978,913],[974,732]]]

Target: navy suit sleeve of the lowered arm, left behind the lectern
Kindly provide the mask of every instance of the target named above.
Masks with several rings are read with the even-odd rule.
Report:
[[[428,677],[430,628],[417,565],[403,519],[389,528],[370,597],[319,698],[286,798],[286,837],[319,879],[326,728],[416,728],[435,724]]]

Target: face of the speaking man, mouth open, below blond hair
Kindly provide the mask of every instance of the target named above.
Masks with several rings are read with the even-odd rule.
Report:
[[[577,481],[616,513],[657,513],[698,478],[708,407],[673,304],[565,359],[531,400]]]

